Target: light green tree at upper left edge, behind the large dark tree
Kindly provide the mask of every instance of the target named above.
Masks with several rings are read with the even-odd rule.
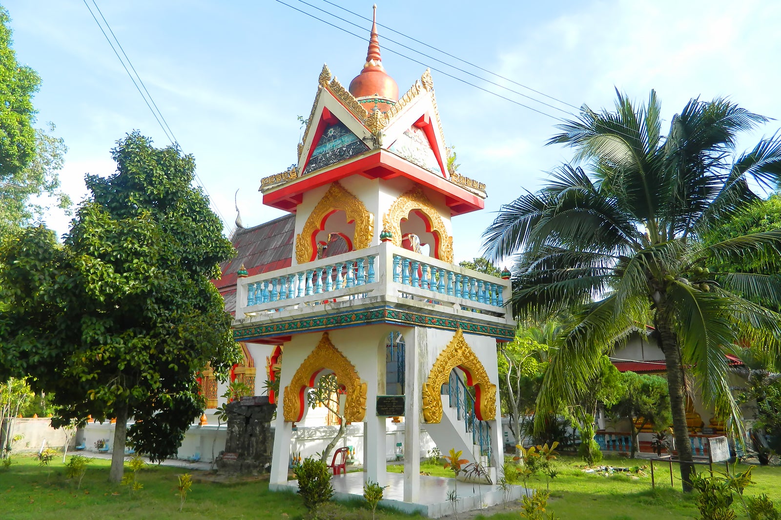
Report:
[[[9,22],[8,12],[0,7],[0,235],[41,215],[40,206],[29,204],[34,195],[59,195],[61,207],[70,205],[57,191],[56,174],[67,148],[62,139],[33,126],[33,96],[41,77],[16,61]]]

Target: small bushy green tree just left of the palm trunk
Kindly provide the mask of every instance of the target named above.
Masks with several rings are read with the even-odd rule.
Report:
[[[655,431],[660,432],[672,424],[670,394],[667,381],[661,376],[624,372],[621,384],[626,391],[618,402],[608,407],[608,412],[615,417],[629,419],[629,428],[632,430],[631,458],[634,458],[638,430],[651,424]],[[636,426],[637,422],[640,422],[639,427]]]

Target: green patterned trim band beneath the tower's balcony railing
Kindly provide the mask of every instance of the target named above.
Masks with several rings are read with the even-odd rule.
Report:
[[[234,340],[256,340],[262,337],[280,336],[285,333],[316,332],[324,329],[339,329],[348,326],[369,325],[371,323],[395,323],[451,330],[460,328],[465,332],[495,337],[497,340],[512,340],[515,338],[515,329],[507,327],[466,322],[439,315],[400,311],[391,307],[377,307],[316,318],[245,326],[234,329]]]

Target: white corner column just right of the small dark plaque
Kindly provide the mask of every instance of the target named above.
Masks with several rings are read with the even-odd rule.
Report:
[[[404,501],[416,502],[420,497],[420,353],[425,351],[425,330],[414,327],[404,333]]]

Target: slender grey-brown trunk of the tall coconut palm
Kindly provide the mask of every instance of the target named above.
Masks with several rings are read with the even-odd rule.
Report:
[[[670,408],[672,411],[672,433],[676,440],[676,451],[680,460],[683,491],[691,492],[691,475],[694,472],[691,444],[689,443],[689,428],[686,425],[686,395],[683,391],[683,361],[678,350],[678,341],[669,322],[657,320],[659,333],[659,348],[665,354],[667,365],[667,386],[670,393]]]

